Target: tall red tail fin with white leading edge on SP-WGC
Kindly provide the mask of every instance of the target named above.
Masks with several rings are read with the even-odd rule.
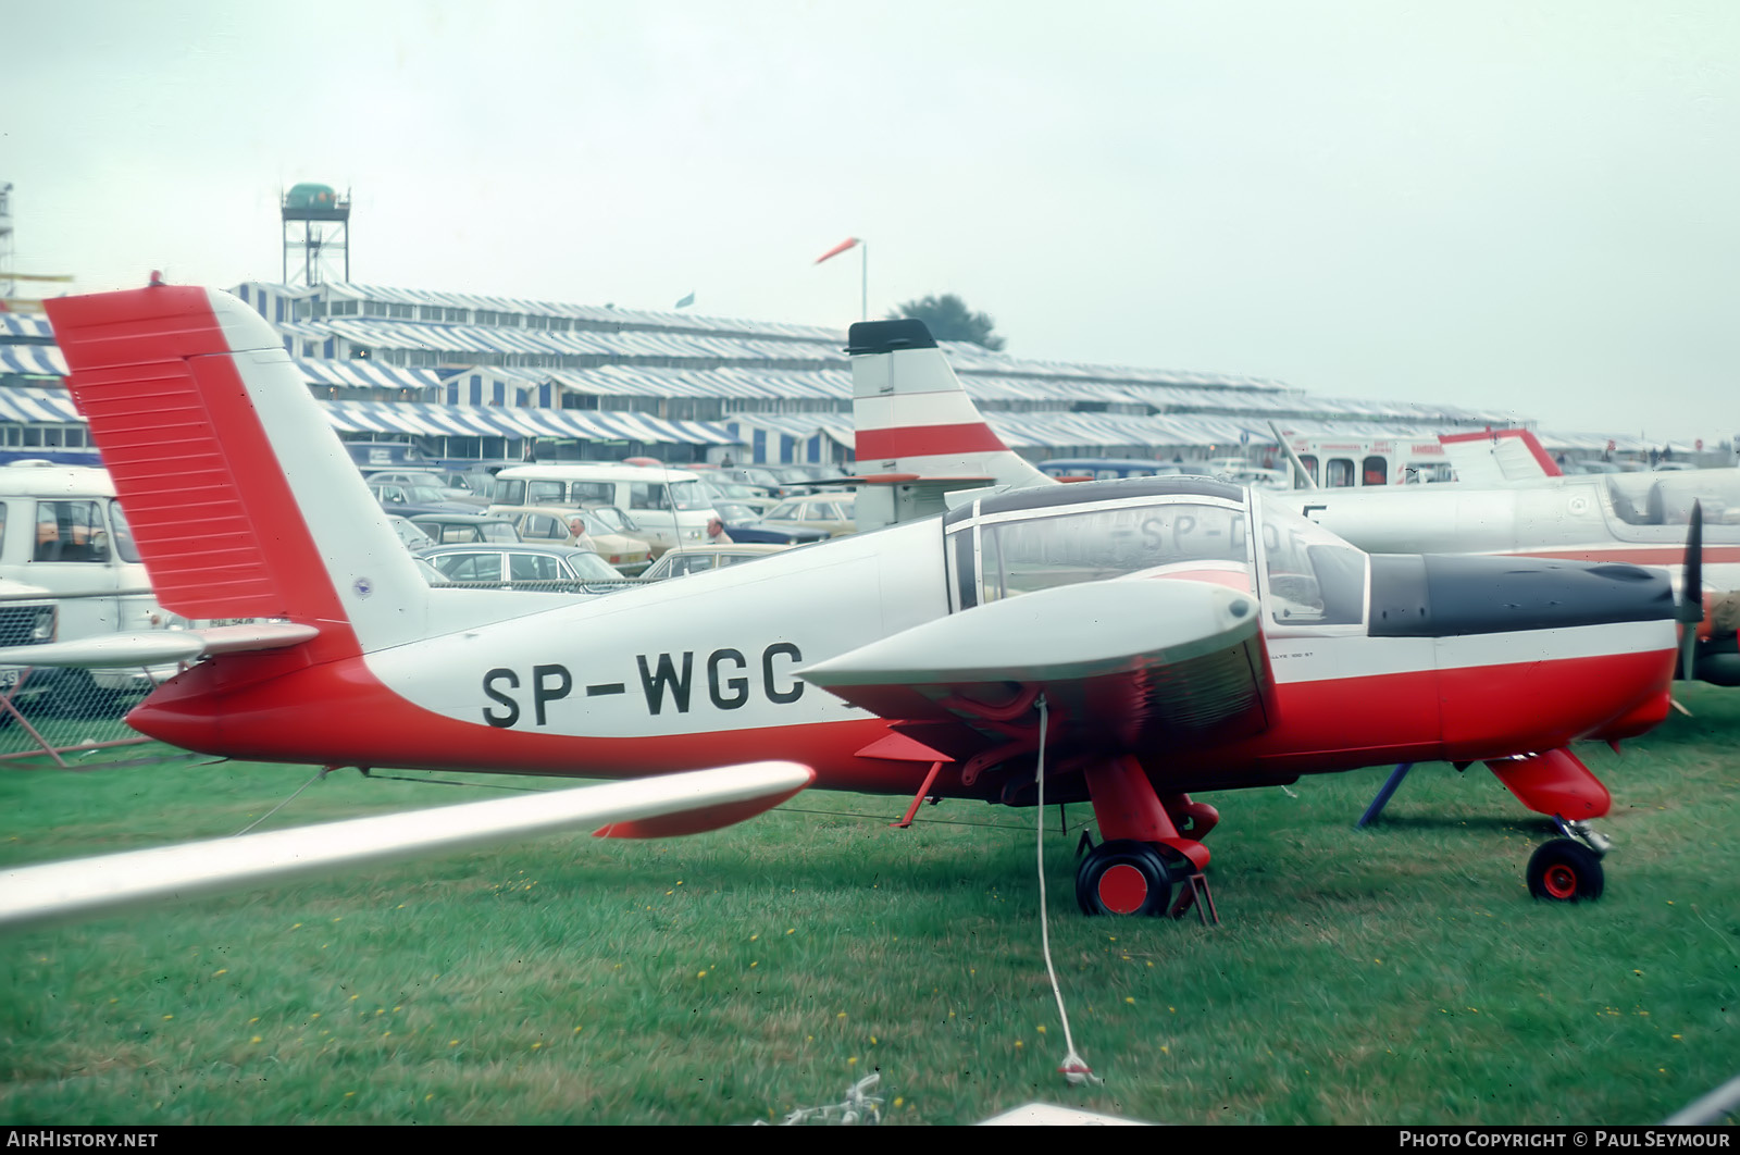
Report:
[[[311,624],[317,659],[421,633],[428,583],[264,318],[171,285],[47,310],[165,607]]]

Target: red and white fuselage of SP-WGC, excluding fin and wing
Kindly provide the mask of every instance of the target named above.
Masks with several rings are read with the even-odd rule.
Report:
[[[985,525],[929,518],[336,661],[219,658],[160,689],[130,722],[242,758],[588,778],[790,758],[814,767],[820,788],[912,793],[929,762],[882,757],[886,744],[867,751],[889,738],[889,722],[806,684],[799,670],[971,612],[990,597],[992,576],[964,560],[960,543],[985,537],[994,522],[1004,534],[1049,532],[1060,548],[1086,551],[1044,562],[1047,581],[1140,581],[1168,567],[1138,557],[1128,572],[1107,571],[1101,546],[1128,544],[1119,527],[1140,527],[1138,544],[1148,534],[1159,548],[1173,532],[1166,548],[1195,550],[1206,539],[1176,534],[1211,518],[1235,534],[1263,527],[1232,543],[1223,565],[1268,607],[1275,717],[1230,744],[1155,751],[1145,765],[1157,783],[1204,790],[1392,760],[1507,757],[1629,736],[1667,708],[1674,630],[1660,578],[1589,578],[1589,590],[1603,590],[1590,595],[1599,604],[1545,624],[1470,621],[1467,607],[1456,618],[1448,595],[1423,579],[1389,574],[1362,553],[1338,546],[1331,558],[1310,553],[1322,544],[1315,539],[1286,544],[1308,531],[1265,518],[1242,491],[1178,494],[1166,482],[1075,485],[1068,501],[985,513]],[[1171,529],[1152,529],[1162,522]],[[1295,572],[1312,564],[1319,572]],[[1498,583],[1477,597],[1503,595],[1516,581],[1502,565],[1488,572],[1476,560],[1474,581]],[[1302,595],[1298,583],[1321,590]],[[1331,597],[1331,586],[1340,593]],[[1385,624],[1409,598],[1423,598],[1415,612],[1427,614],[1425,626]],[[1340,604],[1331,612],[1326,602]],[[992,778],[966,784],[960,767],[947,765],[933,793],[995,790]]]

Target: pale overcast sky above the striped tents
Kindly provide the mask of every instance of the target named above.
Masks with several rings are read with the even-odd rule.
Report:
[[[16,268],[846,325],[1740,433],[1740,3],[0,0]]]

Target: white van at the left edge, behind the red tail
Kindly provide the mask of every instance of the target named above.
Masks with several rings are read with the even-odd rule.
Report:
[[[184,624],[157,604],[106,470],[47,461],[0,468],[0,579],[56,600],[57,642]],[[73,701],[90,691],[143,692],[151,675],[137,666],[66,670],[57,685]]]

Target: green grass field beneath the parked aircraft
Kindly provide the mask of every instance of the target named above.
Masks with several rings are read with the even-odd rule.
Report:
[[[1740,694],[1684,701],[1623,757],[1580,751],[1615,795],[1594,905],[1529,899],[1545,825],[1479,767],[1418,767],[1368,831],[1383,767],[1204,795],[1218,927],[1081,917],[1077,833],[1053,835],[1053,951],[1101,1087],[1054,1070],[1034,814],[955,802],[893,831],[903,800],[811,793],[696,838],[552,837],[14,938],[0,1122],[731,1124],[870,1070],[901,1124],[1032,1099],[1656,1122],[1740,1072]],[[0,861],[231,833],[308,772],[7,767]],[[270,826],[478,797],[346,772]]]

